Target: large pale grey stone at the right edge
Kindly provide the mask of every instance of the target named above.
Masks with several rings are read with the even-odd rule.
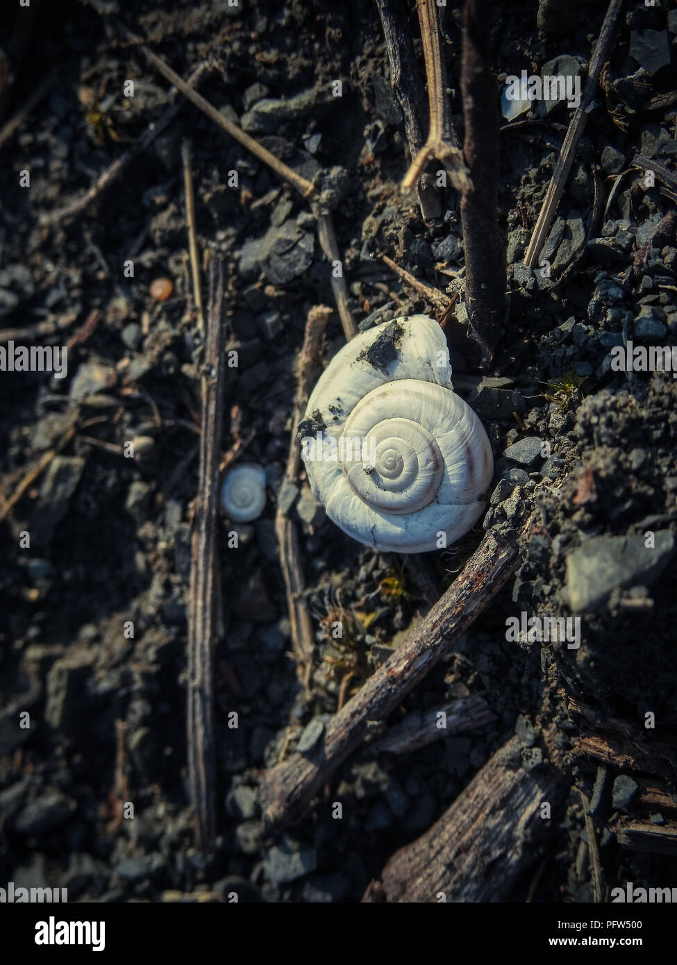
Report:
[[[655,534],[655,546],[643,536],[591,537],[567,557],[567,593],[572,610],[596,610],[612,590],[649,586],[674,555],[675,538],[669,530]]]

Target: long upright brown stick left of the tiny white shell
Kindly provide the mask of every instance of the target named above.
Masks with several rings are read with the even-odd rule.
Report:
[[[216,534],[218,459],[223,428],[226,324],[223,262],[213,259],[205,343],[205,396],[200,436],[200,471],[195,501],[188,606],[188,782],[195,809],[196,844],[211,850],[215,828],[215,759],[212,655],[217,627]]]

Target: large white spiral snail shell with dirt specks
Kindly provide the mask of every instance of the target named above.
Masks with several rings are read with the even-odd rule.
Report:
[[[383,551],[423,553],[464,536],[494,473],[487,433],[453,391],[444,333],[422,315],[344,345],[313,389],[299,436],[329,519]]]

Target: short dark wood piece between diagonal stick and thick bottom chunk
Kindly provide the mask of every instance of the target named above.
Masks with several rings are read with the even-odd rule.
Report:
[[[439,713],[446,715],[446,726],[437,726]],[[410,754],[434,740],[455,733],[476,733],[495,720],[494,711],[479,694],[461,697],[427,710],[414,710],[381,740],[370,744],[370,754]]]

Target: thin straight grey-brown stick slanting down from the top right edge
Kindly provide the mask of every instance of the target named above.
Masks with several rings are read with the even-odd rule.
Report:
[[[536,221],[536,227],[533,230],[531,240],[529,241],[529,246],[526,249],[526,254],[524,255],[524,264],[529,268],[533,268],[538,262],[538,256],[541,254],[541,249],[546,243],[546,238],[550,232],[550,225],[552,224],[552,220],[557,213],[557,207],[559,206],[559,200],[562,197],[562,192],[564,191],[564,185],[569,177],[571,166],[574,163],[576,149],[578,148],[578,141],[580,140],[588,119],[587,109],[590,106],[590,102],[592,101],[595,91],[597,90],[597,82],[600,77],[600,72],[606,60],[608,60],[608,54],[611,49],[611,41],[613,40],[616,29],[616,18],[618,17],[622,3],[623,0],[610,0],[606,10],[606,16],[604,23],[602,24],[600,37],[595,45],[595,52],[590,60],[588,79],[585,85],[585,90],[583,91],[583,96],[579,106],[574,112],[574,117],[571,119],[571,124],[569,124],[569,129],[567,130],[566,137],[564,138],[562,150],[557,159],[557,163],[555,164],[554,171],[552,172],[552,179],[550,179],[548,192]]]

